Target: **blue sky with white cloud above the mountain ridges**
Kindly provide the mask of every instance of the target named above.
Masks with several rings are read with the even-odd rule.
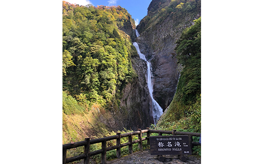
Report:
[[[148,6],[152,0],[64,0],[71,4],[87,5],[91,4],[93,6],[104,5],[104,6],[121,6],[125,8],[128,13],[135,20],[136,25],[139,24],[140,20],[143,19],[148,12]]]

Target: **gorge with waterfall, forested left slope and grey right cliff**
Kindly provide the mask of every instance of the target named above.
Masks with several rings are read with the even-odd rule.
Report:
[[[176,41],[201,1],[153,0],[138,26],[120,6],[62,9],[63,143],[157,124],[184,69]]]

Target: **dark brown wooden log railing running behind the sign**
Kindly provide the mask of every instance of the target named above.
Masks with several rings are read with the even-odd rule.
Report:
[[[142,134],[147,133],[147,137],[142,138]],[[106,163],[106,152],[110,150],[116,149],[116,156],[117,158],[121,157],[121,148],[124,146],[128,146],[128,151],[129,153],[133,153],[133,144],[139,143],[139,148],[140,150],[143,149],[142,147],[142,141],[147,140],[147,144],[149,144],[149,137],[151,133],[158,133],[159,136],[162,136],[162,134],[170,134],[170,135],[188,135],[191,136],[191,147],[201,145],[201,143],[198,142],[193,142],[192,141],[192,136],[200,137],[200,133],[190,133],[190,132],[177,132],[176,130],[173,131],[168,131],[168,130],[152,130],[147,127],[147,129],[141,130],[138,129],[138,131],[135,132],[130,132],[130,133],[125,133],[125,134],[120,134],[117,133],[115,136],[109,136],[109,137],[104,137],[100,139],[94,139],[90,140],[90,138],[85,138],[84,141],[76,142],[76,143],[70,143],[70,144],[64,144],[62,145],[62,163],[68,163],[80,159],[84,159],[84,164],[88,164],[90,157],[93,155],[97,154],[102,154],[101,155],[101,162]],[[132,136],[138,135],[138,140],[133,141]],[[128,137],[128,142],[121,144],[121,138],[123,137]],[[115,146],[110,146],[107,147],[106,142],[110,140],[116,140],[116,145]],[[92,151],[90,152],[90,145],[96,144],[96,143],[102,143],[102,149]],[[74,156],[67,158],[67,149],[72,149],[72,148],[77,148],[80,146],[84,146],[84,154]]]

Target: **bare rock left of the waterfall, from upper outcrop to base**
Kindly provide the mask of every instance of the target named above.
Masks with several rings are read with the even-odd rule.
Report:
[[[129,25],[130,24],[130,25]],[[136,32],[133,23],[125,23],[120,30],[124,32],[126,37],[135,41]],[[114,116],[113,128],[137,130],[138,128],[146,128],[154,123],[152,111],[150,110],[150,96],[146,83],[147,64],[140,59],[136,48],[133,46],[134,52],[131,54],[131,64],[137,73],[137,77],[129,82],[122,90],[122,99],[120,100],[120,108]]]

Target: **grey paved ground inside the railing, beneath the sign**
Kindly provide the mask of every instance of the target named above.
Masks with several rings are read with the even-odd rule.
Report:
[[[122,163],[122,164],[158,164],[158,163],[181,163],[181,164],[201,164],[201,158],[194,156],[194,155],[186,155],[187,157],[187,161],[183,162],[180,160],[180,158],[178,157],[178,155],[163,155],[164,157],[166,157],[166,161],[162,162],[159,161],[157,158],[157,155],[150,155],[150,150],[146,149],[144,151],[139,151],[127,156],[124,156],[122,158],[119,159],[114,159],[114,160],[110,160],[107,161],[108,164],[110,163]]]

